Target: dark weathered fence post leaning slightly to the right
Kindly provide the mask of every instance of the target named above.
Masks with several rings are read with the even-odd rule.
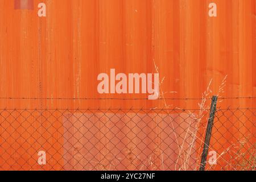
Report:
[[[202,153],[200,171],[205,170],[205,164],[207,163],[207,155],[208,155],[208,150],[209,150],[210,137],[212,135],[212,127],[213,127],[214,116],[216,113],[217,100],[218,100],[217,96],[212,97],[212,104],[210,105],[210,116],[208,119],[207,131],[205,134],[204,149],[203,149],[203,153]]]

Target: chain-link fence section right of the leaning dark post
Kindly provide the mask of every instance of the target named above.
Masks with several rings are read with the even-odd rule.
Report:
[[[216,165],[208,169],[256,169],[256,109],[218,109],[210,147],[217,152]]]

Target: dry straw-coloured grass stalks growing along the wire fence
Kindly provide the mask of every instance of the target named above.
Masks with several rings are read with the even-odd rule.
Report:
[[[157,67],[157,65],[155,64],[155,71],[157,73],[159,73],[159,68]],[[218,87],[218,92],[217,92],[217,96],[221,96],[221,94],[224,94],[224,88],[226,86],[226,79],[228,76],[225,76],[224,79],[222,80],[220,86]],[[164,77],[162,78],[162,80],[160,81],[159,84],[159,90],[160,90],[160,98],[162,98],[163,104],[164,104],[164,108],[165,109],[170,109],[170,107],[173,107],[173,105],[168,105],[167,101],[164,98],[164,94],[166,93],[176,93],[176,92],[164,92],[164,90],[162,89],[162,84],[164,82]],[[189,127],[186,130],[185,133],[185,137],[183,139],[182,142],[179,142],[178,138],[177,138],[177,134],[175,132],[175,127],[174,127],[174,119],[171,117],[171,113],[167,113],[168,114],[168,118],[170,119],[170,125],[172,127],[172,132],[174,133],[174,137],[178,146],[178,151],[179,151],[179,155],[176,159],[175,162],[175,170],[179,170],[179,171],[185,171],[188,169],[191,169],[191,159],[192,159],[192,152],[194,147],[196,146],[196,142],[200,142],[200,151],[201,151],[201,147],[204,145],[204,136],[205,136],[205,131],[206,131],[206,127],[204,127],[203,131],[203,135],[202,138],[198,138],[197,133],[199,132],[199,129],[202,129],[203,126],[203,121],[207,122],[208,121],[208,114],[209,114],[209,110],[210,110],[210,106],[207,101],[209,101],[209,98],[212,96],[212,90],[210,89],[212,86],[212,80],[209,81],[209,84],[205,90],[205,92],[202,94],[202,98],[201,98],[201,102],[198,104],[199,106],[199,113],[197,114],[196,119],[196,127],[193,127],[193,130],[191,129],[192,127],[192,123],[189,123]],[[218,100],[218,102],[222,102],[221,100]],[[154,109],[156,109],[157,107],[155,107]],[[189,113],[189,114],[193,114],[193,113]],[[159,123],[161,124],[161,123]],[[191,140],[191,136],[192,140]],[[190,142],[189,147],[184,147],[185,143],[188,143],[188,140]],[[226,164],[226,166],[223,166],[222,169],[227,170],[227,169],[232,169],[232,170],[255,170],[256,168],[256,152],[255,152],[255,145],[251,146],[251,147],[247,147],[248,150],[245,152],[241,152],[242,148],[245,148],[245,143],[244,142],[238,142],[238,144],[240,144],[240,148],[237,148],[237,144],[232,144],[230,145],[228,148],[226,148],[225,150],[222,151],[221,154],[219,154],[217,156],[217,161],[222,161],[223,164]],[[157,144],[156,144],[157,145]],[[147,159],[140,159],[140,156],[136,156],[135,158],[131,159],[131,165],[134,167],[137,167],[136,169],[139,170],[146,170],[148,168],[152,169],[152,170],[156,170],[156,169],[164,169],[164,154],[163,151],[161,150],[160,146],[156,146],[157,149],[154,150],[154,152],[152,152],[151,155],[147,156]],[[209,147],[210,150],[213,150],[211,147]],[[157,152],[156,152],[157,151]],[[132,153],[132,151],[130,151],[130,153]],[[157,154],[155,154],[157,153]],[[248,155],[249,154],[249,155]],[[227,155],[232,156],[232,159],[230,159],[229,161],[226,161],[225,158]],[[160,160],[160,166],[157,166],[155,164],[155,160],[158,159],[158,161]],[[195,159],[193,159],[195,160]],[[199,151],[197,151],[197,157],[196,157],[196,166],[194,168],[194,170],[198,170],[200,167],[200,160],[201,160],[201,153]],[[97,163],[96,168],[97,169],[101,169],[101,170],[115,170],[115,167],[121,163],[121,160],[117,160],[117,159],[109,159],[108,160],[110,162],[109,165],[103,165],[100,162]],[[208,166],[207,170],[209,169],[214,169],[216,167],[216,165],[214,166]]]

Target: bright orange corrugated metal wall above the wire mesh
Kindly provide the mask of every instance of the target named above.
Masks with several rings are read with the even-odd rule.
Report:
[[[45,2],[46,18],[37,5]],[[210,2],[217,17],[208,16]],[[212,82],[222,97],[256,96],[255,0],[34,0],[14,10],[0,0],[0,97],[144,98],[100,95],[97,75],[155,73],[166,98],[200,98]],[[198,101],[167,101],[197,108]],[[152,108],[163,101],[0,100],[2,108]],[[225,100],[222,107],[255,107]]]

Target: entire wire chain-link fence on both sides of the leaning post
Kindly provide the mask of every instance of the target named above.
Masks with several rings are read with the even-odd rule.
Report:
[[[256,109],[217,109],[206,170],[255,170]],[[199,170],[209,110],[0,109],[1,170]]]

